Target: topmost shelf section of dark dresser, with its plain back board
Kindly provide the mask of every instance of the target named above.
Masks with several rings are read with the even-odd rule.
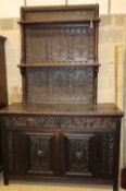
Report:
[[[99,22],[99,4],[23,7],[20,24]]]

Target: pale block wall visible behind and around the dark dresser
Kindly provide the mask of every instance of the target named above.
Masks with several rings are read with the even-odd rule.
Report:
[[[98,103],[115,103],[126,111],[124,63],[126,60],[126,0],[67,0],[67,4],[100,4]],[[9,103],[22,100],[22,80],[16,67],[21,59],[20,20],[21,5],[65,4],[66,0],[0,0],[0,35],[7,37],[7,75]],[[126,76],[125,76],[126,79]],[[124,96],[123,96],[124,95]],[[124,124],[126,120],[124,118]],[[126,145],[126,130],[122,138]],[[122,139],[123,140],[123,139]],[[123,166],[126,167],[126,151],[121,148]],[[122,164],[122,162],[121,162]]]

